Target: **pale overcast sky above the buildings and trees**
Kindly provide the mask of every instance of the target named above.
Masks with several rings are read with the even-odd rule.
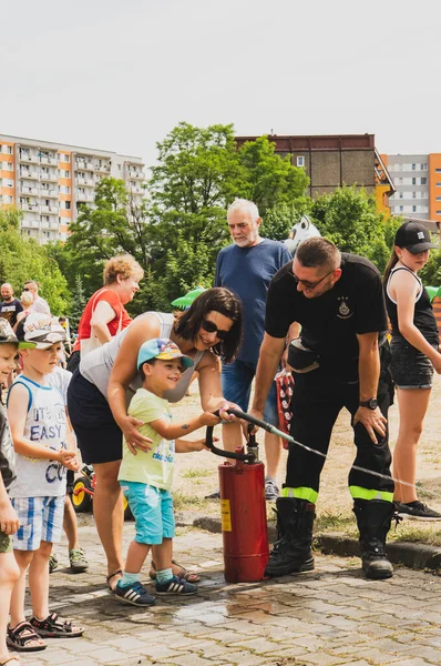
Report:
[[[438,0],[1,3],[0,134],[141,157],[180,122],[441,152]]]

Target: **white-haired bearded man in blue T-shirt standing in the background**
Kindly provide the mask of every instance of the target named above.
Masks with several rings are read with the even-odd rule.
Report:
[[[227,220],[233,243],[217,255],[215,286],[225,286],[239,296],[244,307],[244,340],[237,359],[223,366],[222,384],[224,397],[246,412],[264,339],[268,286],[273,276],[290,261],[291,255],[283,243],[259,236],[261,219],[252,201],[236,199],[228,208]],[[268,423],[278,425],[275,382],[269,391],[264,417]],[[232,423],[224,428],[224,445],[234,451],[243,442],[240,427],[237,423]],[[280,437],[265,433],[265,492],[269,501],[279,495],[276,475],[280,451]]]

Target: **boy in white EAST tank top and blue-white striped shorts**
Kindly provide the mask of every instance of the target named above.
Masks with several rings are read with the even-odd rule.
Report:
[[[12,592],[8,644],[31,652],[44,648],[45,644],[29,644],[29,626],[48,638],[71,638],[83,633],[81,627],[49,610],[49,557],[52,544],[61,537],[65,471],[76,471],[79,463],[75,452],[66,448],[63,397],[47,379],[58,364],[64,331],[50,315],[32,312],[19,323],[17,336],[35,346],[20,351],[23,373],[8,395],[8,417],[17,454],[17,478],[10,496],[21,525],[13,537],[20,578]],[[24,615],[28,567],[33,614],[29,623]]]

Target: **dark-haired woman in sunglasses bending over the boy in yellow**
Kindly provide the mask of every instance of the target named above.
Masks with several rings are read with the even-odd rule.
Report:
[[[222,395],[218,359],[224,363],[233,361],[240,346],[242,325],[238,297],[224,287],[208,289],[183,313],[141,314],[111,342],[82,359],[73,374],[68,393],[69,415],[83,462],[92,464],[95,472],[93,513],[112,589],[123,567],[123,496],[117,481],[122,433],[133,453],[150,447],[150,441],[137,430],[141,422],[126,413],[126,405],[141,386],[136,370],[139,350],[154,337],[175,342],[183,354],[193,359],[194,366],[164,397],[172,403],[181,401],[197,371],[202,408],[214,412],[227,404]],[[183,575],[185,571],[173,573]]]

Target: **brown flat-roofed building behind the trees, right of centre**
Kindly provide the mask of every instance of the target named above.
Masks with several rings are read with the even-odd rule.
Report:
[[[239,148],[257,137],[236,137]],[[390,214],[393,181],[376,149],[375,134],[268,134],[280,157],[291,155],[294,167],[305,169],[311,198],[330,194],[336,188],[355,185],[376,195],[377,209]]]

